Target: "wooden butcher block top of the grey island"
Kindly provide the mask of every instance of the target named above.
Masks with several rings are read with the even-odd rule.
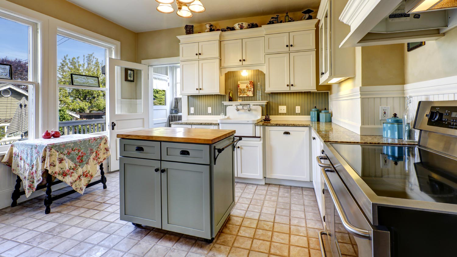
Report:
[[[213,144],[235,134],[234,130],[158,127],[117,134],[119,138]]]

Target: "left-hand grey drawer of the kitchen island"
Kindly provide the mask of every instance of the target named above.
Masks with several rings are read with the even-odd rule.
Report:
[[[160,142],[121,139],[119,155],[143,159],[160,160]]]

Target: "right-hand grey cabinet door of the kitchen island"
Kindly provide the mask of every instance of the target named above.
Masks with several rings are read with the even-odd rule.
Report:
[[[211,238],[210,166],[162,161],[162,229]]]

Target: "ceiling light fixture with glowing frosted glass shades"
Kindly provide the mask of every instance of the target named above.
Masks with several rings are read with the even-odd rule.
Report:
[[[159,6],[157,6],[157,10],[161,13],[172,13],[175,11],[171,6],[175,0],[156,0],[159,2]],[[189,6],[187,4],[190,4]],[[178,7],[178,11],[176,14],[183,18],[190,18],[194,16],[192,12],[204,12],[206,9],[202,4],[201,0],[176,0],[176,6]]]

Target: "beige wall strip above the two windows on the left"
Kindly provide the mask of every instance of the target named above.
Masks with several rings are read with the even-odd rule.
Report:
[[[64,0],[8,0],[121,42],[121,59],[136,61],[136,33]]]

